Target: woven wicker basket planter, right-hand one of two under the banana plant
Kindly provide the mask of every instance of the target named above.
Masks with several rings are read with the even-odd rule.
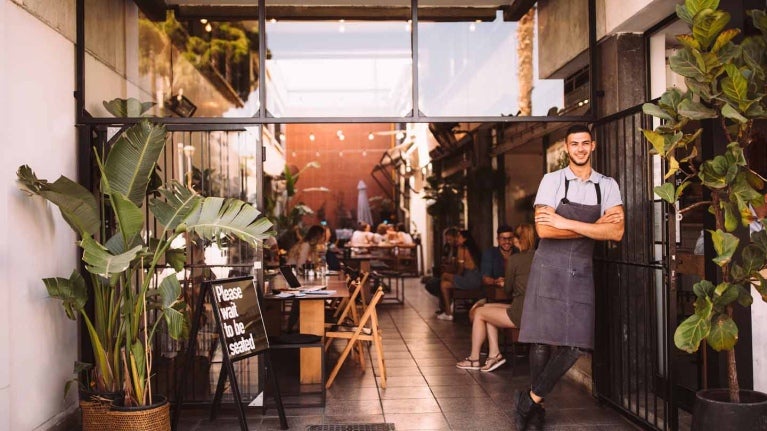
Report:
[[[126,407],[117,402],[107,412],[109,431],[170,431],[170,404],[162,395],[155,395],[154,404]]]

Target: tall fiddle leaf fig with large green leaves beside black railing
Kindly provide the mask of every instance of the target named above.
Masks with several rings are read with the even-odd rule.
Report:
[[[656,103],[644,105],[644,113],[661,120],[654,130],[643,130],[651,153],[666,161],[665,183],[655,193],[677,204],[690,185],[698,184],[707,190],[707,200],[678,212],[708,208],[715,219],[715,229],[708,234],[721,276],[693,286],[695,312],[677,327],[674,343],[692,353],[706,340],[714,350],[727,352],[732,402],[740,400],[733,309],[751,305],[752,285],[767,301],[767,282],[759,274],[765,267],[767,235],[764,230],[756,232],[748,243],[741,243],[745,235],[736,235],[754,222],[765,225],[753,212],[765,205],[765,180],[749,167],[746,151],[750,145],[765,145],[754,139],[754,121],[767,117],[767,15],[759,10],[748,14],[759,33],[738,42],[741,31],[726,28],[730,15],[719,9],[718,0],[686,0],[678,5],[677,16],[689,25],[690,33],[677,36],[682,47],[669,63],[684,77],[687,91],[672,88]],[[697,120],[721,126],[726,139],[720,154],[699,165],[695,142],[702,129],[691,130],[690,124]]]

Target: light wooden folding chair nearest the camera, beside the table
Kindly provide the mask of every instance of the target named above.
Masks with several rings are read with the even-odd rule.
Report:
[[[351,353],[352,348],[354,348],[356,344],[360,344],[362,341],[372,342],[373,348],[375,348],[376,357],[378,359],[378,369],[381,373],[381,387],[384,389],[386,388],[386,364],[384,363],[381,330],[378,326],[378,314],[376,313],[376,306],[381,301],[383,295],[383,289],[379,287],[373,295],[373,298],[370,299],[370,302],[365,308],[365,312],[362,314],[362,317],[360,317],[359,324],[354,328],[353,331],[329,330],[325,332],[325,339],[327,340],[325,342],[326,350],[336,339],[340,338],[347,340],[346,347],[344,347],[344,350],[341,352],[341,356],[338,358],[335,367],[333,367],[333,370],[330,372],[330,375],[325,382],[326,389],[329,389],[330,386],[333,385],[333,381],[335,381],[338,372],[341,370],[341,366],[344,364],[344,361],[346,361],[349,353]],[[358,356],[358,359],[360,360],[360,366],[364,370],[364,358],[361,355]]]

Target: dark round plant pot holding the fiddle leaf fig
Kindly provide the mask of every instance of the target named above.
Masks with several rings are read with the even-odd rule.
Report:
[[[691,430],[767,430],[767,394],[742,390],[740,403],[731,403],[727,389],[698,391]]]

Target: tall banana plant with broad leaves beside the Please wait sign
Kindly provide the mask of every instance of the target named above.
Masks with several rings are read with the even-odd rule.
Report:
[[[142,112],[146,107],[135,99],[110,103]],[[37,178],[26,165],[17,172],[21,188],[56,205],[80,238],[82,269],[44,283],[62,301],[67,316],[79,316],[88,329],[95,387],[121,390],[118,404],[126,407],[156,404],[151,377],[159,328],[165,326],[174,339],[188,332],[178,278],[157,277],[161,269],[183,269],[185,249],[172,248],[173,240],[182,235],[209,241],[229,236],[255,245],[272,235],[271,222],[247,202],[203,197],[175,181],[151,187],[157,183],[153,178],[158,178],[154,173],[165,141],[163,126],[142,120],[122,132],[105,157],[97,151],[100,183],[95,195],[63,176],[54,182]],[[161,226],[154,238],[145,238],[145,202]],[[89,297],[93,311],[85,307]],[[169,426],[167,403],[160,410]],[[110,430],[120,429],[120,414]]]

